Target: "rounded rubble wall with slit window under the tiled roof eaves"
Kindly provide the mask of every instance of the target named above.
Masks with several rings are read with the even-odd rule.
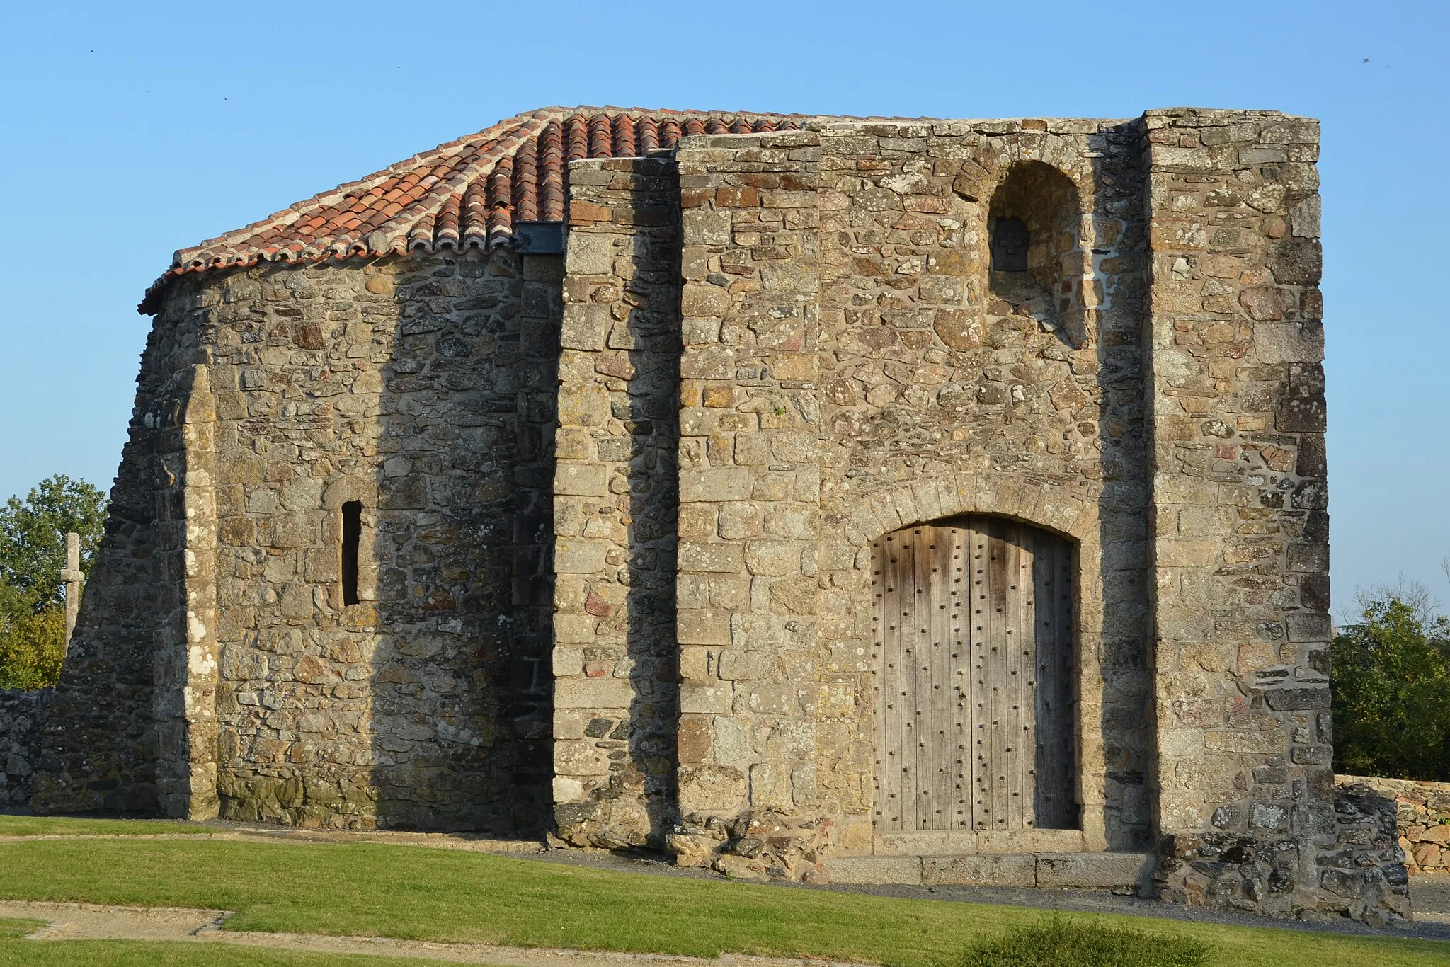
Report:
[[[193,552],[164,583],[188,618],[207,589],[216,609],[215,663],[187,673],[193,705],[215,689],[215,726],[184,713],[190,815],[210,768],[232,819],[539,826],[548,628],[532,586],[557,261],[267,265],[177,284],[171,303],[202,306],[207,326],[212,413],[191,406],[184,452],[215,462],[216,520],[215,578]],[[181,496],[204,512],[207,494]],[[349,500],[357,605],[341,587]]]

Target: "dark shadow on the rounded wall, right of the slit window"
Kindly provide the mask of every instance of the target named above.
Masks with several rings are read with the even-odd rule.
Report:
[[[373,567],[360,568],[364,603],[344,607],[378,629],[381,828],[541,835],[547,823],[560,261],[447,258],[400,293],[376,503],[358,494]],[[439,297],[451,312],[434,310]],[[341,542],[344,502],[328,503]]]

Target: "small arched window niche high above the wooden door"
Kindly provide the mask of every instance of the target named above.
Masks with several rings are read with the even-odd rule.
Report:
[[[987,204],[986,332],[1038,325],[1082,348],[1085,255],[1077,186],[1043,161],[1008,168]]]

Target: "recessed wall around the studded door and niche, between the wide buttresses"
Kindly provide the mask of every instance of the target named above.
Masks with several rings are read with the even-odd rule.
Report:
[[[1082,835],[967,834],[956,850],[1148,841],[1135,141],[1131,123],[1066,120],[822,135],[821,584],[829,590],[818,673],[831,707],[821,718],[835,722],[821,728],[818,774],[842,783],[874,745],[871,541],[976,512],[1079,545]],[[989,210],[1056,241],[1056,262],[1037,271],[1053,277],[1051,293],[989,271]],[[864,832],[874,779],[871,770],[854,779],[826,802]]]

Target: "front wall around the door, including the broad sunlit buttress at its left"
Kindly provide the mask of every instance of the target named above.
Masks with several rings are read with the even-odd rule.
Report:
[[[970,512],[1066,534],[1083,563],[1083,828],[982,848],[1148,839],[1138,139],[953,122],[682,144],[682,851],[760,810],[826,821],[848,852],[921,851],[871,835],[870,542]],[[1072,229],[1054,300],[986,261],[1022,165],[1072,199],[1041,219]]]

